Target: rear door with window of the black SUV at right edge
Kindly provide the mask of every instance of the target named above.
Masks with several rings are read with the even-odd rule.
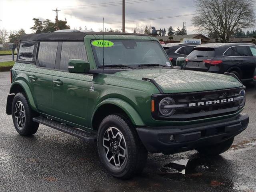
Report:
[[[249,46],[234,47],[234,66],[238,66],[242,72],[242,80],[252,79],[255,69],[255,58]]]

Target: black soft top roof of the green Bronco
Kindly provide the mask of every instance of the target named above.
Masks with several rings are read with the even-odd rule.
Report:
[[[58,33],[39,33],[39,34],[24,34],[21,36],[21,41],[45,41],[45,40],[66,40],[66,41],[83,41],[86,35],[102,35],[103,32],[58,32]],[[136,33],[119,33],[119,32],[104,32],[108,35],[140,35],[147,36],[146,34]]]

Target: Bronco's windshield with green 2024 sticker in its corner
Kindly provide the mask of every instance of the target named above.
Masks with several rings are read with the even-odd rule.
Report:
[[[103,64],[103,40],[91,42],[97,66]],[[156,41],[147,40],[104,40],[104,66],[159,64],[170,66],[163,48]],[[98,46],[97,46],[98,44]],[[106,45],[105,45],[106,44]]]

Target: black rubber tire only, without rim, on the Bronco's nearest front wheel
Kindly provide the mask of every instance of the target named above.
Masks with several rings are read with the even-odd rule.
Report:
[[[127,156],[120,167],[112,166],[108,162],[106,149],[103,146],[104,134],[111,127],[118,128],[126,142]],[[148,151],[140,141],[136,129],[127,118],[119,114],[106,116],[102,120],[98,129],[97,146],[104,168],[112,176],[120,179],[129,179],[136,174],[140,174],[148,158]]]

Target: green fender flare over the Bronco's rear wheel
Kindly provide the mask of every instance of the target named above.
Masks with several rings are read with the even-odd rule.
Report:
[[[30,107],[33,109],[33,110],[37,110],[36,109],[36,104],[34,102],[34,98],[32,96],[32,93],[31,93],[31,90],[28,86],[28,84],[26,84],[26,82],[22,81],[22,80],[17,80],[15,82],[12,83],[12,86],[10,88],[10,94],[12,93],[15,93],[15,86],[16,85],[19,85],[22,87],[22,89],[24,90],[25,94],[26,94],[26,97],[28,99],[28,103],[30,105]]]

